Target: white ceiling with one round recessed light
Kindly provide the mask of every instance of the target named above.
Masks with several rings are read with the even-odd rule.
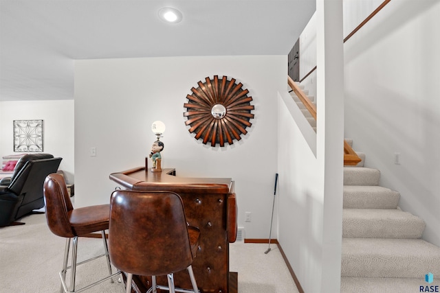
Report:
[[[183,20],[164,23],[163,7]],[[74,60],[288,54],[316,0],[0,0],[0,101],[73,99]]]

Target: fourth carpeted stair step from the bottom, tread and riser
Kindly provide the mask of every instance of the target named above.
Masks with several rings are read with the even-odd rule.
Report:
[[[344,209],[397,209],[400,194],[382,186],[344,185]]]

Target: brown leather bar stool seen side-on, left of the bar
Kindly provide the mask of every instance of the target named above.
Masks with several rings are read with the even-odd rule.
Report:
[[[120,272],[111,274],[109,250],[104,232],[109,228],[109,204],[74,209],[69,193],[67,192],[65,180],[61,174],[50,174],[47,176],[43,185],[43,191],[47,225],[52,233],[66,238],[63,270],[60,272],[61,292],[81,292],[119,274]],[[102,233],[105,253],[77,263],[76,251],[78,247],[78,237],[97,231],[101,231]],[[72,266],[67,267],[70,239],[72,238],[74,239],[72,244]],[[104,279],[91,283],[84,288],[75,290],[76,267],[87,261],[97,259],[98,257],[106,257],[110,275]],[[68,269],[71,269],[70,290],[66,285],[66,272]],[[111,282],[113,283],[113,280],[111,280]]]

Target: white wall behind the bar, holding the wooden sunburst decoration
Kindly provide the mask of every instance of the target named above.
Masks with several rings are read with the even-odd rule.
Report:
[[[162,120],[162,167],[177,176],[236,181],[239,226],[246,238],[267,238],[277,170],[276,98],[286,89],[287,56],[221,56],[78,60],[75,65],[75,202],[109,202],[117,186],[109,174],[144,165]],[[190,89],[206,77],[227,75],[254,99],[252,127],[239,142],[216,148],[185,126]],[[96,156],[89,149],[96,148]],[[244,222],[245,211],[252,222]],[[274,222],[276,227],[276,222]],[[276,237],[276,232],[272,234]]]

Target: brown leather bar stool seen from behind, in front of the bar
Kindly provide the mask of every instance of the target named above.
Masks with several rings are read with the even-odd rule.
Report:
[[[175,292],[199,292],[192,260],[200,231],[188,226],[179,195],[168,191],[113,191],[110,201],[109,253],[113,265],[127,273],[126,293],[133,274],[151,276],[152,286]],[[188,270],[193,290],[175,288],[173,273]],[[157,285],[166,275],[168,287]]]

